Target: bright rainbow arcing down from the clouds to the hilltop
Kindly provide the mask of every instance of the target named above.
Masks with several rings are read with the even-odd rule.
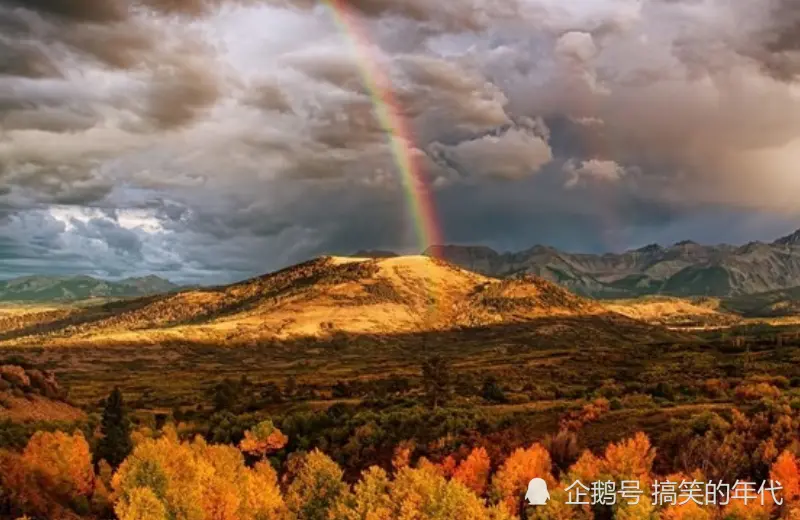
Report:
[[[411,132],[392,94],[391,82],[379,67],[369,37],[346,1],[323,0],[322,3],[330,7],[334,22],[356,58],[361,81],[372,100],[375,117],[386,132],[392,160],[400,174],[408,210],[414,221],[416,238],[420,249],[424,251],[443,243],[433,199],[411,148]]]

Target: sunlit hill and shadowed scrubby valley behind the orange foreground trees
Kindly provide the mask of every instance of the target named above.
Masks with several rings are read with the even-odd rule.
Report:
[[[268,424],[285,435],[274,471],[321,450],[347,485],[370,466],[399,471],[398,456],[424,471],[520,446],[547,450],[564,477],[583,450],[634,438],[652,443],[658,474],[698,461],[713,476],[761,474],[769,446],[789,442],[770,421],[800,424],[800,323],[779,304],[792,294],[595,300],[533,275],[384,255],[141,298],[6,304],[0,455],[58,431],[104,449],[100,414],[119,390],[137,444],[233,449]],[[731,458],[726,443],[754,455]]]

